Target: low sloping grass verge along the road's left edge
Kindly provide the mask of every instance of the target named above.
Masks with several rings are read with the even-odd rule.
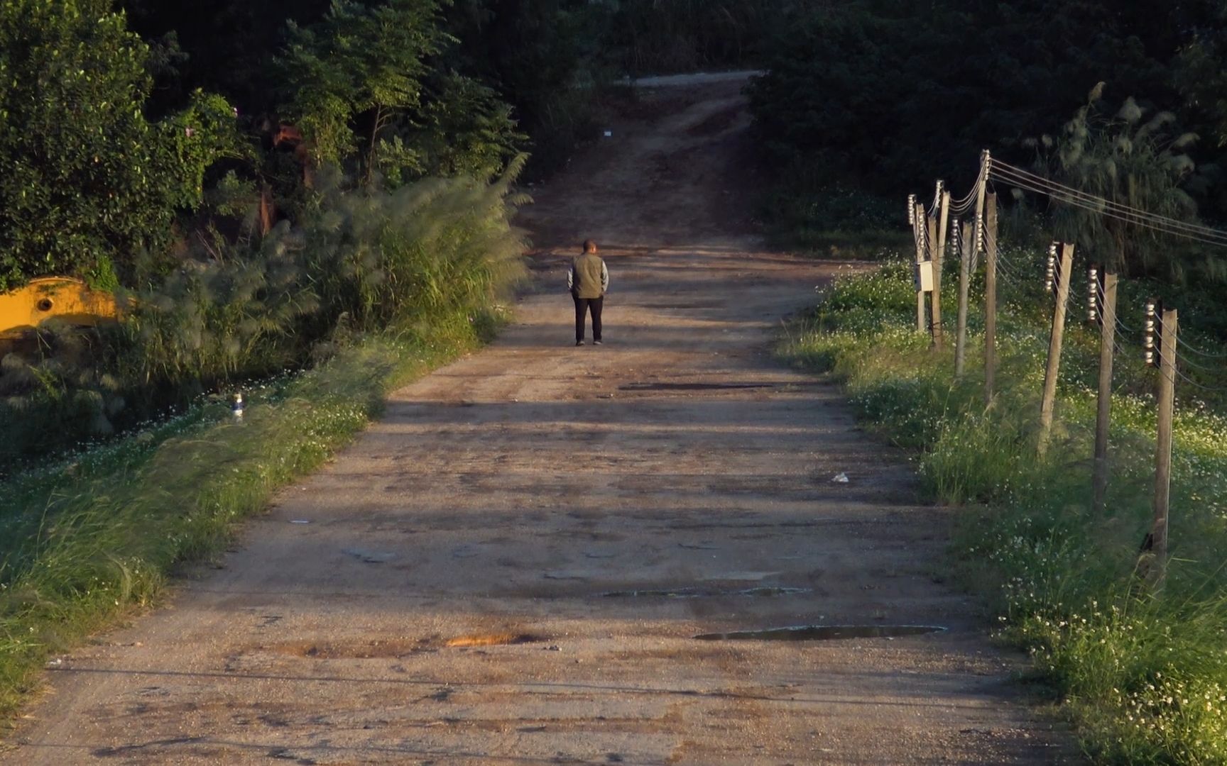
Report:
[[[496,315],[358,336],[319,366],[0,484],[0,722],[55,653],[156,603],[179,566],[348,444],[384,396],[475,348]]]

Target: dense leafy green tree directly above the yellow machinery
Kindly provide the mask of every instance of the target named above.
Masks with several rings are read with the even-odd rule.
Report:
[[[0,289],[48,273],[109,279],[169,240],[205,168],[234,148],[221,97],[195,92],[146,119],[147,56],[108,0],[0,4]]]

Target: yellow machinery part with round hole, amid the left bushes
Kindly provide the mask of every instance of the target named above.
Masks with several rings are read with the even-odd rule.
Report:
[[[94,327],[118,317],[115,297],[91,290],[81,279],[43,277],[7,293],[0,293],[0,355],[48,319]]]

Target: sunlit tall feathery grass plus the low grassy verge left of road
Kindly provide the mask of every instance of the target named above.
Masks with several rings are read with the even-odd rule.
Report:
[[[49,656],[152,603],[182,563],[220,552],[238,520],[351,440],[389,389],[490,337],[499,295],[523,273],[508,183],[334,189],[304,232],[264,245],[292,266],[283,275],[253,275],[242,260],[191,265],[136,304],[128,330],[162,342],[124,363],[163,381],[207,369],[236,385],[252,369],[244,354],[267,360],[287,346],[309,354],[296,357],[307,369],[249,396],[242,422],[225,397],[206,398],[0,480],[0,719]],[[172,289],[178,300],[158,300]]]

